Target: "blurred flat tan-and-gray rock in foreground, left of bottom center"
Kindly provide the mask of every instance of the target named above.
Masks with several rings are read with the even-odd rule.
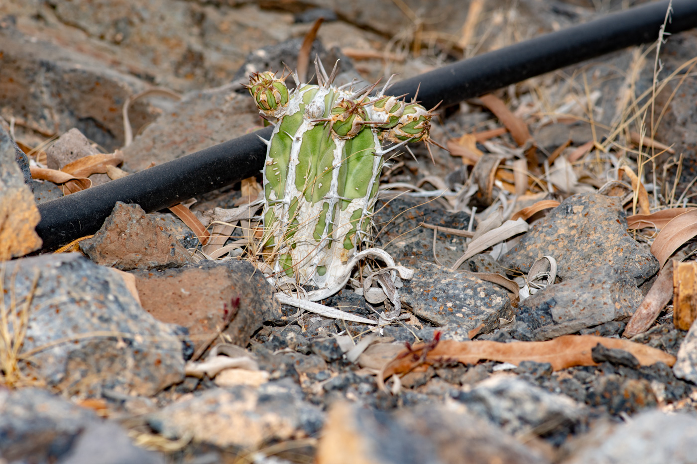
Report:
[[[290,379],[256,389],[244,385],[211,389],[146,419],[167,438],[188,434],[194,441],[244,449],[314,435],[323,424],[321,410],[305,403],[300,387]]]

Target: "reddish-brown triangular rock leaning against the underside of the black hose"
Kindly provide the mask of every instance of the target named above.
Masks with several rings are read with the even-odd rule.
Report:
[[[138,205],[116,202],[112,214],[80,249],[95,263],[121,270],[182,266],[193,260],[181,243]]]

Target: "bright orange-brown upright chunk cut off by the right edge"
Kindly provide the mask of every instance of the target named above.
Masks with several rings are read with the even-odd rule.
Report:
[[[697,262],[673,261],[662,272],[673,269],[673,323],[680,330],[690,330],[697,318]]]

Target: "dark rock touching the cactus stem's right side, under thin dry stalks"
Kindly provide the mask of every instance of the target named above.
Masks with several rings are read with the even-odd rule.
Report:
[[[376,245],[383,247],[401,265],[415,267],[422,261],[434,261],[434,231],[421,226],[422,222],[450,229],[467,229],[470,215],[449,213],[440,204],[423,199],[378,200],[373,222]],[[443,265],[452,265],[464,254],[464,239],[450,233],[438,232],[436,256]]]

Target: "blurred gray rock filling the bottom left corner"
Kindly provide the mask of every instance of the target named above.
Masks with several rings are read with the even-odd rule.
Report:
[[[12,463],[164,463],[116,424],[36,388],[0,392],[0,456]]]

